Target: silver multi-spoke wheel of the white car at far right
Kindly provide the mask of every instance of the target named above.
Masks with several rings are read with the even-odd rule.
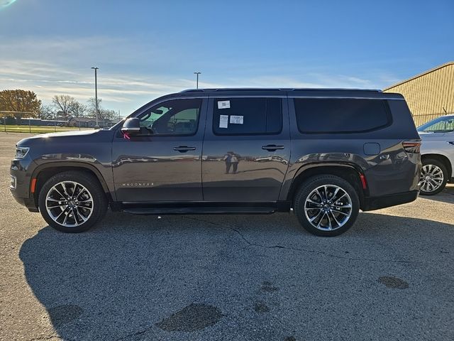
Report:
[[[433,158],[423,159],[423,168],[421,169],[421,195],[436,195],[445,188],[448,182],[448,169],[446,166]]]

